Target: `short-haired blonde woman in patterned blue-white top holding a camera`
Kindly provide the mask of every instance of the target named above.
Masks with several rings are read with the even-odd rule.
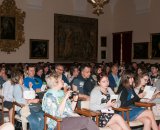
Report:
[[[87,117],[75,117],[74,109],[77,104],[78,95],[69,99],[71,91],[64,93],[61,88],[64,81],[56,73],[46,77],[46,82],[50,88],[44,95],[42,109],[55,117],[63,118],[61,130],[98,130],[96,124]],[[48,130],[56,129],[56,122],[49,119]]]

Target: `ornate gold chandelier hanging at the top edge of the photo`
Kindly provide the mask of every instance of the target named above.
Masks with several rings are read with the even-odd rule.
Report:
[[[110,0],[88,0],[89,3],[92,4],[94,11],[94,14],[97,14],[98,16],[100,14],[103,14],[103,6],[107,4]]]

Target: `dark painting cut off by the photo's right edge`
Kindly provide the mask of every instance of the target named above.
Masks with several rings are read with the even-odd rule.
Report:
[[[153,59],[160,58],[160,33],[151,34],[151,55]]]

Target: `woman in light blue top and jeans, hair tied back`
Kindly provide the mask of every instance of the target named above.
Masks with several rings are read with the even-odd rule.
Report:
[[[15,101],[17,103],[29,106],[29,110],[27,109],[29,112],[21,112],[22,110],[20,108],[17,109],[17,112],[21,115],[21,117],[27,116],[26,118],[29,122],[31,130],[43,130],[44,113],[42,112],[41,105],[38,104],[39,99],[24,99],[23,92],[27,88],[23,86],[23,75],[21,73],[16,73],[15,76],[12,77],[12,82],[15,84],[13,91]]]

